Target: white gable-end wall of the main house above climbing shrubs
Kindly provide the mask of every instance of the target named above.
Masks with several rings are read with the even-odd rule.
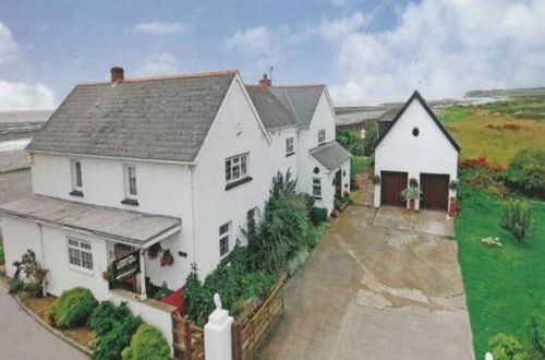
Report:
[[[247,103],[240,79],[231,85],[201,148],[194,171],[195,260],[203,279],[219,261],[219,227],[231,221],[229,245],[245,242],[246,212],[263,208],[270,188],[269,144]],[[240,130],[240,134],[237,134]],[[252,181],[226,190],[225,160],[250,153]],[[284,154],[284,153],[282,153]],[[276,171],[275,171],[276,172]]]

